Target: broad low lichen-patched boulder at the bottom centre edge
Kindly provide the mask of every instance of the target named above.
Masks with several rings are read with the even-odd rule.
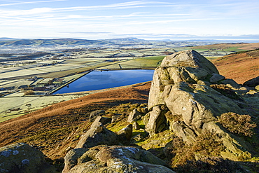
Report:
[[[130,146],[95,146],[88,151],[78,148],[66,154],[65,164],[62,173],[174,172],[152,153]]]

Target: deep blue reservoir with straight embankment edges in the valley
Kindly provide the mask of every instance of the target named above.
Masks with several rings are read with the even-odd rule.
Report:
[[[152,81],[154,70],[92,71],[53,94],[102,90]]]

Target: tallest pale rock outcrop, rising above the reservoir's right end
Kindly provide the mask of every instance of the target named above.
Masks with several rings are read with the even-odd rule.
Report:
[[[220,85],[221,82],[225,84]],[[169,127],[184,141],[192,142],[198,134],[209,130],[221,137],[230,152],[251,151],[238,137],[216,123],[222,113],[248,113],[242,99],[235,92],[225,90],[225,85],[239,87],[235,81],[218,74],[214,64],[195,50],[165,57],[154,72],[146,131],[153,135]]]

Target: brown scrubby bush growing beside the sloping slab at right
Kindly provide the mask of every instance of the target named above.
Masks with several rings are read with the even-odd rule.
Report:
[[[256,124],[251,122],[251,116],[233,112],[221,114],[218,117],[218,122],[230,132],[248,137],[253,136],[253,128],[256,127]]]

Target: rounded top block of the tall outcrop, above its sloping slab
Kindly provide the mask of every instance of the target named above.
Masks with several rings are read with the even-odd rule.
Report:
[[[165,104],[163,97],[167,97],[174,83],[209,82],[209,78],[218,76],[217,74],[214,64],[195,50],[185,50],[165,57],[153,75],[148,109]]]

